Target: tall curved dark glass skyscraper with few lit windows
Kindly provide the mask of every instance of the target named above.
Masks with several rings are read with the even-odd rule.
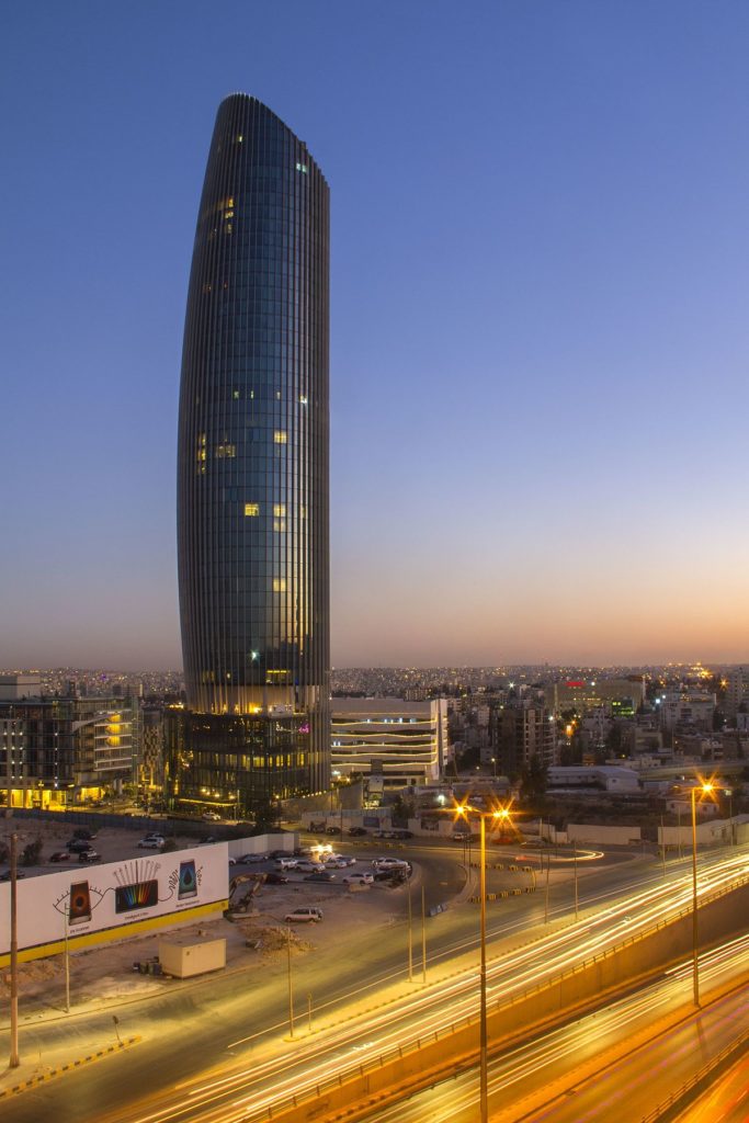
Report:
[[[321,791],[329,752],[329,192],[255,98],[219,107],[184,329],[177,801]],[[213,761],[213,764],[211,764]]]

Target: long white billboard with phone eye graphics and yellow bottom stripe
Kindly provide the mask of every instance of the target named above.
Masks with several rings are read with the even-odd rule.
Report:
[[[19,959],[37,959],[220,913],[229,896],[228,846],[191,847],[65,870],[16,885]],[[81,874],[84,871],[81,870]],[[77,876],[76,876],[77,875]],[[10,959],[10,885],[0,885],[0,967]]]

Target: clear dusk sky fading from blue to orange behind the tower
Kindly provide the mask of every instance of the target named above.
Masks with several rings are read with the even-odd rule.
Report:
[[[6,4],[0,666],[180,666],[220,99],[332,192],[332,658],[748,657],[749,7]]]

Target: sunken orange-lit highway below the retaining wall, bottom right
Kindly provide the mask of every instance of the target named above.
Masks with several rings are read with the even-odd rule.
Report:
[[[706,988],[749,976],[749,937],[728,942],[701,957]],[[747,1025],[746,987],[693,1012],[687,1005],[678,1024],[654,1040],[658,1019],[674,1014],[688,995],[691,961],[657,983],[612,1003],[604,1010],[537,1038],[529,1044],[490,1062],[488,1090],[492,1123],[638,1123],[660,1102],[677,1093],[692,1077],[729,1046]],[[632,1048],[623,1042],[633,1042]],[[619,1047],[620,1059],[612,1057]],[[746,1069],[745,1078],[746,1078]],[[727,1096],[734,1110],[738,1076]],[[732,1098],[731,1098],[732,1097]],[[475,1123],[478,1101],[477,1069],[446,1080],[390,1108],[366,1116],[367,1123]],[[688,1117],[688,1116],[687,1116]],[[747,1114],[729,1116],[747,1123]],[[712,1108],[689,1123],[718,1123]]]

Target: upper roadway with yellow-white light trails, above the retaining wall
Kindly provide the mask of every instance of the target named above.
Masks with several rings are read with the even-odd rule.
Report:
[[[431,849],[423,853],[418,850],[414,857],[423,876],[430,879],[432,892],[435,885],[442,888],[440,883],[455,876],[455,853]],[[738,869],[746,871],[747,865],[740,853],[705,855],[701,858],[701,879],[707,886],[736,876]],[[398,892],[402,913],[404,893]],[[541,969],[557,971],[569,966],[573,958],[610,946],[664,911],[683,906],[689,893],[688,867],[684,862],[672,864],[665,880],[658,868],[643,874],[640,865],[631,864],[581,879],[581,921],[561,931],[549,931],[541,943],[517,948],[512,955],[505,951],[491,966],[490,999],[500,993],[509,994],[511,987],[537,982]],[[540,896],[497,904],[496,912],[490,913],[490,939],[509,935],[517,946],[519,931],[527,932],[530,924],[542,921]],[[593,907],[600,910],[594,916]],[[568,915],[569,909],[569,885],[556,886],[551,915]],[[430,977],[445,976],[447,967],[459,962],[458,957],[474,952],[476,926],[477,912],[469,905],[430,921]],[[167,993],[120,1012],[121,1031],[141,1033],[141,1046],[115,1061],[91,1066],[3,1104],[4,1119],[8,1123],[36,1123],[54,1114],[57,1123],[101,1123],[106,1119],[156,1123],[238,1117],[238,1111],[244,1115],[299,1092],[305,1084],[350,1067],[353,1060],[376,1056],[394,1042],[415,1038],[426,1026],[444,1025],[460,1013],[474,1012],[473,960],[475,953],[468,968],[426,989],[417,988],[398,1008],[373,1013],[371,1007],[384,987],[401,984],[404,989],[404,925],[378,928],[366,948],[347,947],[341,933],[334,955],[308,957],[303,965],[300,992],[313,989],[318,996],[326,995],[325,1005],[318,997],[316,1014],[317,1025],[327,1026],[325,1032],[283,1042],[283,968],[264,971],[262,977],[249,973],[217,977],[209,985]],[[340,1022],[346,1012],[344,1004],[350,1007],[353,998],[366,999],[368,1011],[363,1012],[359,1004],[356,1017]],[[102,1024],[107,1016],[100,1015]],[[84,1029],[90,1029],[90,1021],[84,1026],[74,1019],[36,1031],[27,1029],[22,1048],[35,1048],[38,1042],[43,1049],[49,1035],[57,1034],[65,1035],[75,1052],[74,1035]]]

